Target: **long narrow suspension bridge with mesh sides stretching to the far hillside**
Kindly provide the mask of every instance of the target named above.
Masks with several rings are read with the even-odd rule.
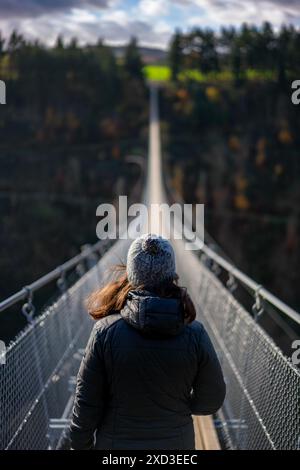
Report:
[[[151,214],[154,204],[170,199],[162,175],[158,88],[152,86],[143,202],[150,208],[151,230],[163,235],[163,226]],[[189,239],[193,226],[185,223]],[[227,385],[224,405],[216,415],[194,417],[196,447],[299,449],[300,370],[259,323],[266,304],[297,327],[299,314],[203,244],[197,234],[193,251],[185,249],[185,240],[171,241],[181,284],[187,286],[198,319],[213,340]],[[105,283],[110,266],[125,262],[129,245],[126,239],[100,240],[0,303],[1,315],[20,305],[28,321],[8,345],[6,363],[0,365],[1,449],[68,448],[76,374],[92,328],[84,299]],[[37,311],[35,293],[54,281],[55,300]],[[250,293],[252,309],[237,300],[237,285]]]

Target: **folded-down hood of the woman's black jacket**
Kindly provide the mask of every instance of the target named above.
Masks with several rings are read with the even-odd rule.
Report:
[[[180,299],[162,298],[150,291],[131,291],[120,311],[132,327],[149,336],[175,336],[184,327]]]

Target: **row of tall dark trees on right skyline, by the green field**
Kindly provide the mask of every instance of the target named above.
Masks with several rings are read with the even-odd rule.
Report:
[[[282,26],[275,32],[265,22],[261,27],[244,23],[239,29],[194,28],[188,33],[179,30],[169,47],[171,76],[177,80],[180,72],[196,69],[203,74],[228,71],[240,84],[251,70],[270,71],[284,85],[288,75],[300,68],[300,32],[293,26]]]

